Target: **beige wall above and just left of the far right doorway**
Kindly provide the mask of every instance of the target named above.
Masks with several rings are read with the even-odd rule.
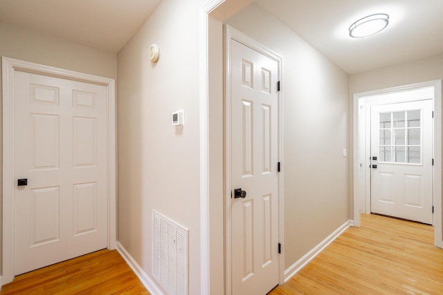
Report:
[[[415,84],[419,82],[443,79],[443,55],[436,55],[404,64],[387,66],[376,70],[358,73],[350,76],[350,116],[352,117],[353,95],[366,91],[376,91],[383,88]],[[352,122],[350,124],[350,150],[352,151]],[[352,175],[352,155],[350,155],[350,175]],[[350,189],[353,189],[352,178]],[[353,208],[351,197],[350,207]],[[351,210],[352,212],[352,210]],[[353,213],[353,212],[352,212]]]

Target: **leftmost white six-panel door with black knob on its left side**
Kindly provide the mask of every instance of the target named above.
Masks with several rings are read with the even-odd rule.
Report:
[[[105,86],[17,71],[14,87],[17,275],[107,247],[108,135]]]

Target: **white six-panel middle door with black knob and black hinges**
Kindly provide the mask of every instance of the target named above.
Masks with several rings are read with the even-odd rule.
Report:
[[[232,185],[244,191],[231,208],[233,295],[266,294],[278,285],[278,63],[231,44]]]

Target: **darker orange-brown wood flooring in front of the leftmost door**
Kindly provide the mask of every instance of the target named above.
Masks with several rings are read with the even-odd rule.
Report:
[[[105,249],[16,276],[0,294],[150,293],[117,251]]]

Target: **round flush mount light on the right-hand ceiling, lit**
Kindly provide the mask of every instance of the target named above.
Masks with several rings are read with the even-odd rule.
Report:
[[[370,35],[377,34],[389,23],[389,15],[386,13],[377,13],[376,15],[369,15],[363,17],[349,27],[349,35],[353,38],[364,38]]]

